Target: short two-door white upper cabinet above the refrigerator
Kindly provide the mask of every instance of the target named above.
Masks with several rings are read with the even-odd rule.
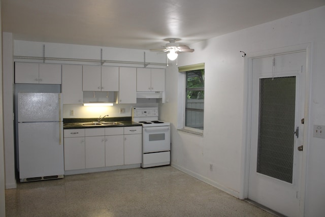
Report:
[[[61,65],[15,63],[15,83],[61,84]]]

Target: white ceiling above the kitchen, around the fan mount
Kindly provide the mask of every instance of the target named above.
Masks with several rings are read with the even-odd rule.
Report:
[[[160,48],[203,41],[325,5],[325,0],[2,0],[14,39]]]

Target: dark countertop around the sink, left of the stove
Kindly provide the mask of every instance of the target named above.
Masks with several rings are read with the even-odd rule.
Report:
[[[123,125],[98,125],[85,127],[81,125],[83,122],[98,121],[97,118],[63,118],[63,129],[83,129],[83,128],[110,128],[110,127],[135,127],[142,126],[141,123],[132,121],[131,117],[107,117],[102,121],[117,121],[123,123]]]

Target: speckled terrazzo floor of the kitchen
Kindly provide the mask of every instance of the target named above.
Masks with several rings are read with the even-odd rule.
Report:
[[[6,215],[273,216],[171,166],[18,183]]]

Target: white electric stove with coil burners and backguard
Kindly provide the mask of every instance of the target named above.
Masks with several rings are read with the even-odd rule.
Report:
[[[157,107],[135,107],[132,120],[142,124],[142,168],[170,164],[170,123],[158,120]]]

